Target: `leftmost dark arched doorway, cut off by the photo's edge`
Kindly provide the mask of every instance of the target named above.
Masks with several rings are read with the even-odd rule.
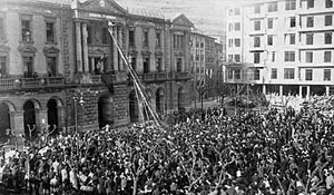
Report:
[[[2,144],[9,138],[6,129],[10,129],[10,109],[4,103],[0,104],[0,144]]]

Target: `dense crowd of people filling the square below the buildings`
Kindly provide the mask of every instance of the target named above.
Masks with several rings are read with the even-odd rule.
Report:
[[[334,194],[334,119],[318,109],[213,108],[168,123],[60,134],[2,162],[2,185],[30,194]]]

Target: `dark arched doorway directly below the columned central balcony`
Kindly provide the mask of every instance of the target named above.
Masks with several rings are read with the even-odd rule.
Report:
[[[111,96],[105,95],[98,101],[99,127],[114,125],[114,100]]]

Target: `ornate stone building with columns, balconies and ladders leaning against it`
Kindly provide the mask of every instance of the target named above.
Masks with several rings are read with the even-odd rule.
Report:
[[[48,126],[73,131],[145,118],[107,20],[154,109],[187,107],[193,23],[140,13],[114,0],[1,1],[0,134],[30,138]]]

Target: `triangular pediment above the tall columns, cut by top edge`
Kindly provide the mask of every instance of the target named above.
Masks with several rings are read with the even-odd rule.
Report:
[[[125,14],[127,11],[115,0],[88,0],[80,4],[80,9],[94,10],[95,12]]]

